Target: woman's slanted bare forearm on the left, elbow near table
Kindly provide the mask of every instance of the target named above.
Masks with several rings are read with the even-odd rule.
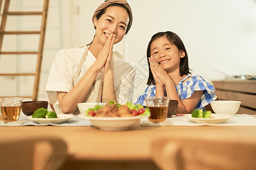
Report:
[[[88,71],[82,76],[81,80],[76,84],[75,87],[72,88],[69,92],[58,92],[58,99],[60,103],[60,108],[63,113],[73,113],[77,109],[77,104],[81,103],[90,88],[99,71],[94,69],[91,66]]]

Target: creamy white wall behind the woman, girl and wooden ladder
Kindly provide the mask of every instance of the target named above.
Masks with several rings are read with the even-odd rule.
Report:
[[[39,2],[42,2],[42,0],[13,1],[16,2],[13,8],[19,7],[23,10],[36,10],[40,7]],[[45,88],[48,71],[57,51],[61,48],[86,45],[92,41],[95,32],[91,21],[92,15],[102,2],[104,1],[50,0],[39,100],[47,99]],[[223,71],[228,75],[256,74],[254,0],[128,0],[128,2],[133,9],[134,22],[128,35],[115,45],[114,49],[137,68],[134,96],[141,94],[146,87],[148,76],[146,48],[151,36],[159,31],[172,31],[181,37],[187,48],[192,73],[203,75],[208,81],[224,78],[224,75],[215,70]],[[25,24],[26,22],[22,24],[15,19],[10,22],[14,27],[34,26]],[[31,43],[26,39],[20,41],[15,44],[14,40],[11,40],[5,47],[26,49],[20,44]],[[0,59],[0,71],[3,71],[5,69],[2,69],[1,64],[4,60],[2,56]],[[26,57],[21,61],[16,60],[14,63],[19,63],[19,66],[15,66],[16,69],[28,71],[33,66],[31,61],[28,61]],[[5,79],[3,82],[2,78],[0,80],[0,96],[3,93],[6,95],[6,88],[10,88],[9,90],[14,91],[16,95],[31,93],[31,90],[26,88],[31,80],[26,78],[18,82],[10,79]]]

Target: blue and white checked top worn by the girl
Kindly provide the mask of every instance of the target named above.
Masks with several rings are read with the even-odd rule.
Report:
[[[185,76],[182,80],[180,80],[177,86],[175,86],[180,100],[188,99],[191,97],[194,91],[203,91],[203,95],[196,105],[196,109],[205,110],[204,107],[208,105],[210,101],[216,100],[217,98],[214,92],[215,88],[212,86],[212,84],[206,82],[200,75],[192,76],[187,82],[182,83],[188,77],[189,75]],[[135,101],[134,104],[146,106],[145,97],[155,96],[155,91],[156,87],[151,84],[146,88],[142,95],[137,97],[137,101]]]

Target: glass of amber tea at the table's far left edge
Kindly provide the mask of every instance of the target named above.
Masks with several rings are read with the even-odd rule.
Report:
[[[22,97],[1,97],[0,107],[3,122],[15,123],[19,120],[22,105]]]

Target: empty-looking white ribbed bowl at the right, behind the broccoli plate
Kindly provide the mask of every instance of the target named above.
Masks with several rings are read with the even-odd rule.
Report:
[[[217,114],[236,114],[240,108],[241,101],[217,100],[210,101],[210,106]]]

